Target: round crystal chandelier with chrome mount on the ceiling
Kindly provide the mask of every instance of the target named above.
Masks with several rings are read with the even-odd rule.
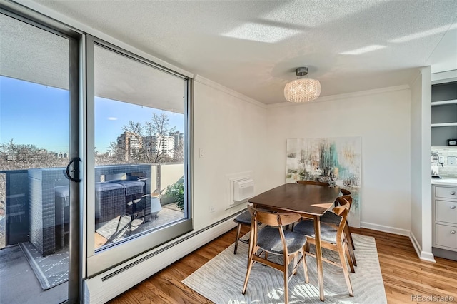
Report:
[[[286,84],[284,97],[290,102],[313,101],[321,94],[321,83],[316,79],[301,78],[308,74],[308,68],[298,68],[295,71],[298,79]]]

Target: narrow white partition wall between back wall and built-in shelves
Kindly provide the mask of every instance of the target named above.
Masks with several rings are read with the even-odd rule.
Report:
[[[419,258],[431,253],[431,67],[411,85],[411,241]]]

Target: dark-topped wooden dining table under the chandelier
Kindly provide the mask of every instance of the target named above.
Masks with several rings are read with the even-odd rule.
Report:
[[[304,217],[313,218],[316,239],[316,264],[318,273],[319,293],[323,301],[323,270],[321,248],[320,218],[333,206],[340,193],[340,188],[286,183],[265,191],[248,201],[254,207],[273,208],[281,211],[300,213]]]

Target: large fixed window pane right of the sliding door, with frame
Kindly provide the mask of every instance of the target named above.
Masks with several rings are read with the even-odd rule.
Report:
[[[89,274],[191,230],[187,78],[102,41],[93,47]]]

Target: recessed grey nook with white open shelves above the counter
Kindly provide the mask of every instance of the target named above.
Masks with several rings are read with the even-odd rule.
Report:
[[[457,81],[431,87],[431,145],[447,146],[457,139]]]

